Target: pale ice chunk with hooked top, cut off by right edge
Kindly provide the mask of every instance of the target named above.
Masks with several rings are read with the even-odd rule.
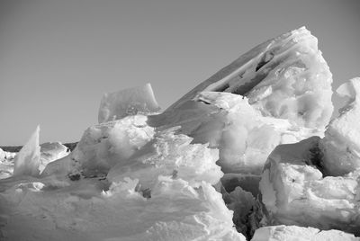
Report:
[[[338,87],[338,94],[348,99],[340,116],[331,121],[322,139],[327,174],[347,174],[360,167],[360,78]]]

